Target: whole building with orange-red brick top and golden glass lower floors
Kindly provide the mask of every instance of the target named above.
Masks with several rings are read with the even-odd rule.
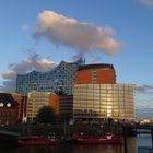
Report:
[[[134,119],[134,85],[117,84],[113,64],[80,66],[75,72],[73,118],[83,120]]]

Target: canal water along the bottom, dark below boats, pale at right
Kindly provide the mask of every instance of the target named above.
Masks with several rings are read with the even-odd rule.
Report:
[[[151,146],[150,134],[130,137],[127,140],[128,153],[138,153],[138,146]],[[79,145],[59,144],[55,146],[22,146],[22,148],[0,148],[0,153],[123,153],[123,145]]]

